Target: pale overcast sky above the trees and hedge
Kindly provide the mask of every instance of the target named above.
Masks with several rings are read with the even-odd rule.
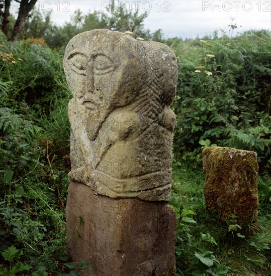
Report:
[[[118,2],[116,1],[116,4]],[[271,30],[271,0],[251,1],[194,1],[194,0],[129,0],[121,1],[127,10],[139,9],[148,11],[145,19],[145,28],[151,32],[162,29],[166,38],[181,37],[202,38],[204,35],[212,35],[215,30],[224,29],[227,34],[231,23],[231,17],[235,18],[238,29],[243,32],[250,29]],[[69,21],[76,9],[83,13],[105,11],[109,1],[96,0],[68,0],[68,1],[38,1],[36,7],[43,11],[53,11],[52,20],[58,25]],[[15,3],[16,5],[16,3]],[[239,26],[242,27],[239,27]]]

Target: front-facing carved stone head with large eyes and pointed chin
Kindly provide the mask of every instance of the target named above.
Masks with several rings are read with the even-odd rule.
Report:
[[[143,48],[135,42],[119,32],[93,30],[66,47],[64,71],[90,140],[112,110],[135,99],[146,79]]]

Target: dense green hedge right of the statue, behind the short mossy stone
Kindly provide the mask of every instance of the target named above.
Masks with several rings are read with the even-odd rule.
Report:
[[[218,145],[256,151],[261,168],[270,168],[269,44],[262,31],[174,46],[176,159],[201,161],[201,146]]]

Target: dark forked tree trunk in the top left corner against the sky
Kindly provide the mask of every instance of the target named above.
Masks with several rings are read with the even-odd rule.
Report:
[[[10,41],[19,40],[22,37],[27,17],[37,2],[37,0],[15,0],[15,1],[20,3],[20,7],[19,7],[18,17],[15,22]],[[12,3],[12,0],[0,1],[1,11],[4,8],[4,12],[0,13],[0,16],[3,18],[1,29],[6,37],[8,36],[11,3]]]

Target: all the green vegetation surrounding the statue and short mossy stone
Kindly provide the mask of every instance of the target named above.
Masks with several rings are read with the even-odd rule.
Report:
[[[64,47],[94,28],[129,31],[167,44],[179,78],[172,108],[171,205],[177,214],[176,265],[180,275],[267,275],[271,242],[271,39],[249,31],[236,37],[183,41],[144,28],[146,14],[76,11],[62,27],[32,12],[24,39],[0,32],[0,275],[79,275],[83,260],[65,255],[65,212],[70,170]],[[10,32],[15,20],[10,19]],[[233,30],[232,30],[233,31]],[[205,210],[201,151],[206,146],[252,150],[259,162],[259,232],[243,236]],[[230,230],[229,230],[230,229]],[[241,265],[240,265],[241,263]]]

